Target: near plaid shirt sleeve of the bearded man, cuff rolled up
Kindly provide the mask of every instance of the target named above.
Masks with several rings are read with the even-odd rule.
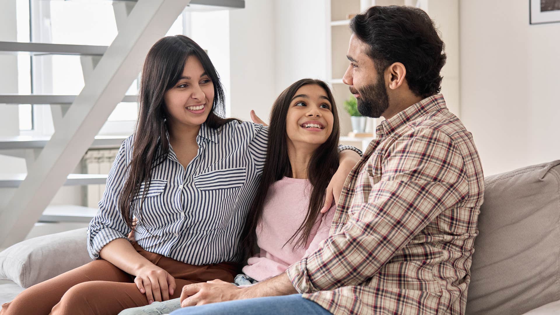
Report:
[[[298,292],[361,284],[428,223],[468,196],[460,149],[434,129],[396,140],[381,165],[381,178],[367,202],[353,204],[343,228],[286,271]]]

